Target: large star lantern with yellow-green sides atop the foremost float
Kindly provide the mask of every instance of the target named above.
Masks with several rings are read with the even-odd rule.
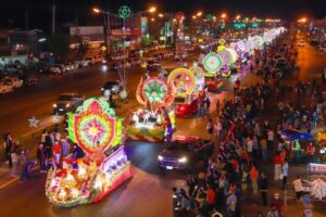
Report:
[[[122,119],[102,99],[91,98],[77,108],[76,114],[67,115],[68,138],[88,154],[115,146],[122,139]]]

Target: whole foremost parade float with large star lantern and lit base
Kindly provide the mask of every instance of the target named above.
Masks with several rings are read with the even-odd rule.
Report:
[[[68,113],[68,139],[83,150],[53,164],[46,195],[59,207],[96,203],[131,177],[124,151],[122,119],[102,99],[89,99]],[[83,156],[83,157],[82,157]]]

